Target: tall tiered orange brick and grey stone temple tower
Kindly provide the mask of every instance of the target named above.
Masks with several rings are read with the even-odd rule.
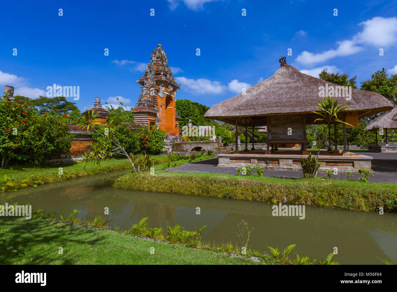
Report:
[[[161,44],[153,50],[148,68],[141,79],[137,78],[137,83],[141,84],[142,93],[135,108],[131,110],[135,123],[144,126],[157,125],[168,135],[179,135],[181,117],[176,111],[175,102],[176,90],[181,85],[175,82]]]

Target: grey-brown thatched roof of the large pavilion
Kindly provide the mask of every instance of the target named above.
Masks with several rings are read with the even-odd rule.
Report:
[[[317,110],[314,106],[323,98],[318,95],[319,87],[325,87],[326,83],[340,86],[284,65],[273,76],[247,89],[245,95],[240,93],[214,105],[204,117],[229,124],[234,124],[236,117],[253,117],[252,120],[242,119],[239,124],[243,126],[253,122],[255,126],[261,126],[266,124],[266,115],[308,113],[307,122],[311,123],[315,118],[309,116]],[[349,106],[346,111],[357,112],[358,118],[393,108],[393,104],[378,93],[352,89],[351,94],[350,101],[341,97],[339,104]]]

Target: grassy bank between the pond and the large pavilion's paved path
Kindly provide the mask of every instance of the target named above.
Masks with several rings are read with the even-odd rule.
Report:
[[[354,211],[397,209],[397,184],[156,172],[124,175],[114,187]]]

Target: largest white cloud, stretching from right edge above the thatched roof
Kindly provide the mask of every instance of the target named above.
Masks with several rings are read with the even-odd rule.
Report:
[[[397,18],[373,17],[359,23],[362,32],[357,33],[351,40],[337,42],[338,47],[322,53],[301,52],[296,61],[301,64],[316,64],[334,57],[349,56],[363,50],[363,44],[374,46],[391,46],[397,44]]]

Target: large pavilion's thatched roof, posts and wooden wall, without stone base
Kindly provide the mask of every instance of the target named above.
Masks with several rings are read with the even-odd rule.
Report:
[[[324,96],[335,96],[335,100],[340,100],[339,104],[349,106],[341,112],[340,119],[356,128],[359,119],[393,109],[393,104],[378,93],[347,88],[306,75],[287,65],[285,57],[280,58],[279,62],[281,68],[273,76],[235,97],[214,105],[204,117],[234,124],[236,130],[237,126],[243,126],[246,128],[246,133],[248,127],[252,128],[253,132],[255,127],[267,126],[266,154],[270,153],[269,143],[276,145],[275,151],[278,150],[278,144],[299,143],[302,144],[302,154],[308,154],[306,124],[323,123],[315,122],[319,116],[313,111],[318,110],[315,106],[321,103]],[[290,129],[288,133],[287,129]],[[344,126],[344,140],[345,138],[346,126]],[[335,153],[338,152],[336,141],[335,134]],[[343,153],[346,153],[346,147],[344,149]],[[254,150],[253,143],[252,150]],[[247,142],[245,151],[247,151]]]

